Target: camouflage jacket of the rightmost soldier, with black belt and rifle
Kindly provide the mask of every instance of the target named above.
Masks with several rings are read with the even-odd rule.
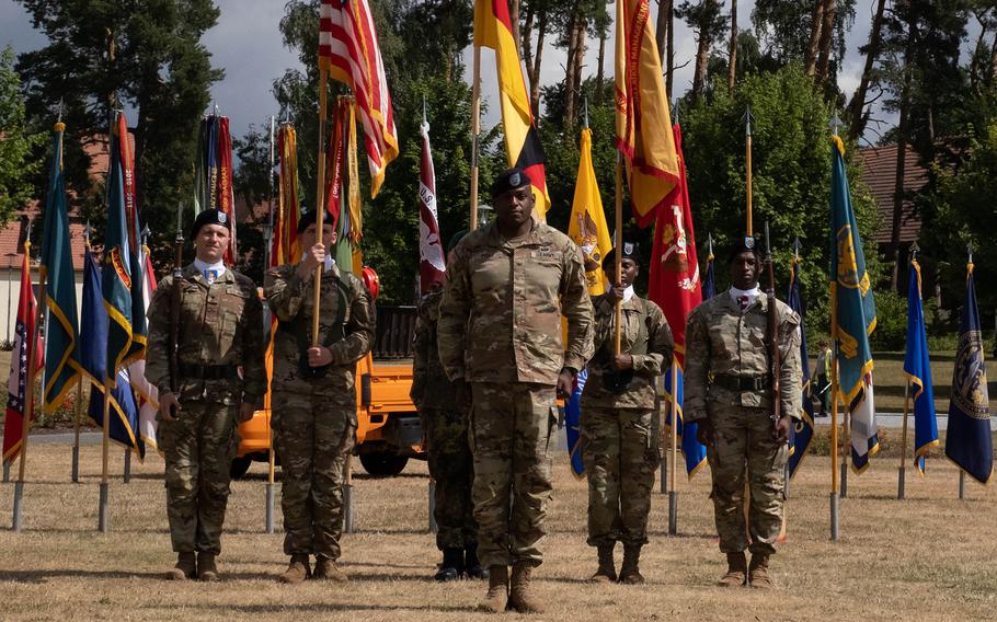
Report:
[[[779,390],[782,414],[800,417],[800,316],[782,301],[779,311]],[[686,326],[685,400],[686,421],[699,421],[709,413],[708,403],[772,407],[771,359],[768,334],[768,299],[764,293],[744,313],[730,291],[707,300],[692,310]],[[723,377],[723,378],[720,378]],[[722,387],[732,378],[767,378],[761,390]]]

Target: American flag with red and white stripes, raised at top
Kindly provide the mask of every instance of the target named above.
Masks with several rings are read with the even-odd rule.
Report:
[[[319,67],[353,90],[370,168],[370,196],[398,156],[398,134],[385,64],[367,0],[322,0],[319,13]]]

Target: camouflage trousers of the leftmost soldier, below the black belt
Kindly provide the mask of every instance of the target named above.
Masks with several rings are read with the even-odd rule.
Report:
[[[185,401],[175,421],[160,421],[167,516],[176,553],[221,552],[232,458],[239,448],[236,406]]]

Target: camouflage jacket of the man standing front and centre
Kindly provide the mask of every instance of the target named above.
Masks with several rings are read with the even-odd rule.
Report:
[[[582,253],[534,219],[505,240],[493,222],[454,249],[439,309],[439,358],[450,380],[554,384],[592,356],[592,301]],[[568,343],[561,316],[568,319]]]

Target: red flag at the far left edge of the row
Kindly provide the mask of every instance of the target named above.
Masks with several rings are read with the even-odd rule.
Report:
[[[35,307],[35,295],[31,288],[31,266],[28,264],[31,243],[24,243],[24,255],[21,263],[21,298],[18,300],[18,323],[14,327],[14,349],[10,357],[10,379],[7,384],[7,417],[3,419],[3,461],[12,462],[21,452],[21,439],[24,435],[24,414],[31,412],[32,391],[27,387],[27,361],[31,358],[31,336],[35,334],[35,320],[38,311]],[[42,356],[42,336],[35,341],[35,371],[45,366]]]

